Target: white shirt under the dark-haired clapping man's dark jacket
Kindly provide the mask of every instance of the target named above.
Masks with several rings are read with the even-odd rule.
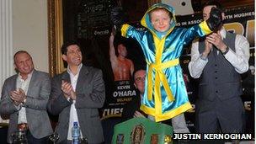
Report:
[[[71,85],[72,85],[72,88],[75,92],[76,92],[76,88],[77,88],[77,79],[78,79],[79,72],[80,72],[82,66],[83,66],[83,64],[79,65],[76,75],[73,75],[70,68],[67,67],[67,72],[70,75]],[[75,107],[75,104],[76,104],[76,100],[72,100],[72,105],[71,105],[71,108],[70,108],[70,115],[69,115],[69,126],[68,126],[67,140],[72,140],[73,123],[75,121],[77,121],[77,124],[79,126],[79,121],[78,121],[78,118],[77,118],[77,109]],[[80,130],[80,136],[81,136],[81,138],[83,138],[81,130]]]

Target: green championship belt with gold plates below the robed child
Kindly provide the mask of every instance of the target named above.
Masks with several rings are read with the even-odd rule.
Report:
[[[115,125],[112,144],[171,144],[172,135],[172,126],[138,117]]]

